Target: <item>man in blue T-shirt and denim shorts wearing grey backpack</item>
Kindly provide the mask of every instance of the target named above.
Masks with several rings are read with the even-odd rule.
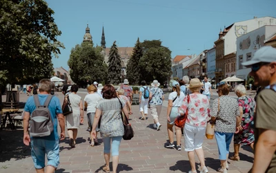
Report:
[[[60,139],[65,138],[65,122],[59,99],[50,95],[51,81],[39,81],[39,94],[28,98],[24,108],[23,143],[31,145],[32,160],[37,172],[55,172],[59,165],[59,134],[57,119],[61,127]],[[30,130],[29,130],[30,121]],[[45,165],[45,156],[48,163]]]

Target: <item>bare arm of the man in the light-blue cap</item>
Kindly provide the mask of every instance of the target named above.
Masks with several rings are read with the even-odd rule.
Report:
[[[276,131],[260,129],[259,139],[255,146],[255,160],[252,173],[266,172],[276,150]]]

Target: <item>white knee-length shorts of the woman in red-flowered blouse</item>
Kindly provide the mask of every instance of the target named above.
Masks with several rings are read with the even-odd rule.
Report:
[[[184,147],[186,152],[193,152],[202,148],[206,127],[195,127],[185,124],[184,127]]]

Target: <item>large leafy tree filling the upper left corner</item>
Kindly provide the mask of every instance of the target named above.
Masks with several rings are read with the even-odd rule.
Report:
[[[50,78],[52,55],[64,48],[54,11],[42,0],[2,0],[0,7],[0,84]]]

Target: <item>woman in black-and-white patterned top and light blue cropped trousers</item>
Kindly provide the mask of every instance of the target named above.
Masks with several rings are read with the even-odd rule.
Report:
[[[227,158],[229,155],[229,145],[234,133],[241,128],[239,120],[239,104],[236,98],[231,98],[229,86],[226,82],[219,83],[217,87],[219,98],[213,102],[211,120],[215,122],[215,138],[219,149],[219,160],[221,167],[219,172],[227,173]]]

